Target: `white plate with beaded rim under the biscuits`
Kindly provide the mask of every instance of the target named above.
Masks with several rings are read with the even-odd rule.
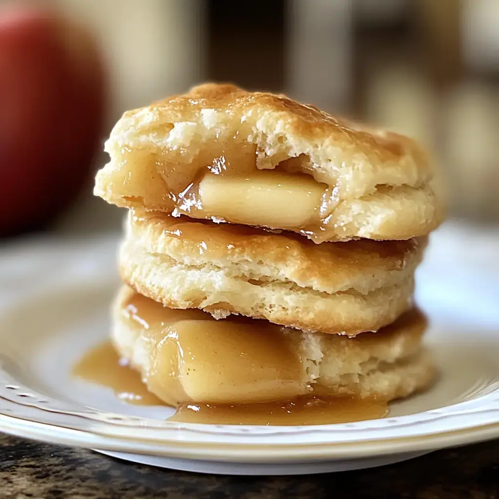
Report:
[[[419,271],[442,376],[387,418],[302,427],[195,425],[71,377],[106,338],[116,240],[30,240],[0,258],[0,429],[155,466],[230,474],[320,473],[499,437],[498,234],[448,225]]]

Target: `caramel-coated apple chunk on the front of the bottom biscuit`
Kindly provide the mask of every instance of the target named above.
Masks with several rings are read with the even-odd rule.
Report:
[[[290,400],[307,391],[297,335],[253,321],[175,324],[179,378],[188,400],[251,403]]]

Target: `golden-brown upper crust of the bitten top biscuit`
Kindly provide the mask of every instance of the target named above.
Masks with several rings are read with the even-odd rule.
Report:
[[[290,138],[295,139],[295,147],[302,146],[303,149],[294,151],[298,154],[292,156],[315,152],[314,156],[319,160],[314,161],[317,166],[327,163],[327,159],[320,161],[324,158],[324,150],[329,150],[332,158],[339,151],[331,149],[340,149],[351,153],[352,159],[353,155],[363,155],[373,166],[389,167],[392,162],[396,163],[398,169],[407,170],[413,186],[429,181],[432,177],[425,151],[408,137],[340,120],[315,106],[300,104],[285,95],[248,92],[231,84],[205,83],[186,94],[127,111],[114,128],[109,145],[114,141],[125,145],[138,145],[142,141],[162,145],[165,140],[173,143],[175,139],[172,137],[168,140],[162,127],[154,129],[152,124],[175,125],[184,122],[187,125],[201,119],[203,125],[210,129],[224,122],[229,123],[232,116],[237,116],[241,123],[261,120],[256,123],[256,130],[263,131],[266,128],[277,138],[280,133],[291,135]],[[268,125],[274,125],[274,130],[268,130]],[[148,133],[148,136],[144,136],[143,132]],[[313,151],[319,148],[322,151]]]

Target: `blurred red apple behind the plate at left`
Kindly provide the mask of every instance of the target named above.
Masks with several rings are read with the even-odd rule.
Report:
[[[40,227],[78,195],[104,94],[87,32],[39,9],[0,10],[0,235]]]

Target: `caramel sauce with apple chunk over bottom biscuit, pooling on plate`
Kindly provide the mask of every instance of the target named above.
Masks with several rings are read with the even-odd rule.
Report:
[[[300,335],[257,319],[216,321],[200,310],[165,308],[125,290],[122,325],[149,355],[143,378],[110,342],[73,369],[124,402],[177,407],[171,420],[209,424],[315,425],[387,414],[384,401],[315,396]]]

